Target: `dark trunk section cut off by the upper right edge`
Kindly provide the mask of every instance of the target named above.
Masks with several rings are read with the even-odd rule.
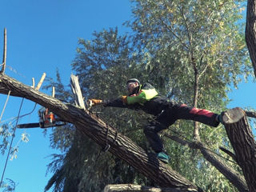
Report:
[[[250,52],[250,59],[254,66],[256,77],[256,1],[247,1],[246,13],[246,44]]]

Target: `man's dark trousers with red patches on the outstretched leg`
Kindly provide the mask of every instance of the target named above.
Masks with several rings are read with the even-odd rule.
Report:
[[[219,124],[216,120],[218,114],[214,114],[210,110],[189,107],[185,104],[171,104],[172,105],[170,105],[169,108],[162,111],[162,114],[158,115],[155,121],[150,122],[144,128],[144,134],[146,135],[148,142],[150,142],[150,146],[156,153],[164,150],[158,132],[167,129],[178,119],[194,120],[215,127]]]

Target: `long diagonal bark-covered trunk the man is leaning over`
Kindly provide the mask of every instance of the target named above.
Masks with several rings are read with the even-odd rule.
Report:
[[[172,170],[170,166],[158,161],[154,154],[146,154],[130,138],[118,134],[113,127],[89,114],[88,111],[74,105],[63,104],[56,98],[42,94],[30,86],[23,85],[13,78],[0,74],[0,93],[7,94],[9,90],[13,96],[27,98],[49,108],[59,118],[73,123],[78,130],[89,136],[98,145],[104,147],[109,144],[110,153],[134,166],[135,169],[154,180],[159,186],[186,191],[201,191],[193,183]]]

